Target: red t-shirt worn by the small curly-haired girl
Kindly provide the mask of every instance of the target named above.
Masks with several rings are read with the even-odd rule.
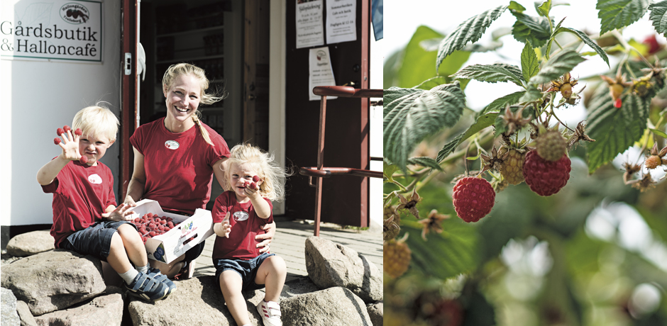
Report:
[[[217,237],[213,247],[213,259],[253,259],[260,255],[260,248],[255,247],[263,240],[255,240],[255,235],[265,233],[261,225],[273,223],[273,205],[264,198],[271,208],[271,215],[267,219],[255,214],[253,203],[238,203],[233,191],[221,193],[213,206],[213,223],[221,223],[227,212],[231,212],[229,225],[231,232],[229,239]]]

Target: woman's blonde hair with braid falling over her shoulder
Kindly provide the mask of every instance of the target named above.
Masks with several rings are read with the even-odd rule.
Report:
[[[199,103],[211,105],[227,97],[224,91],[221,91],[221,94],[219,94],[218,90],[216,90],[214,94],[206,93],[206,89],[209,89],[209,79],[206,78],[204,69],[189,63],[172,64],[169,66],[165,72],[165,75],[162,76],[162,85],[166,89],[169,89],[178,77],[187,74],[199,79],[199,82],[201,83],[200,86],[202,86],[202,94],[199,94]],[[208,142],[211,146],[215,146],[211,141],[209,132],[206,130],[206,128],[204,128],[201,119],[202,113],[199,112],[199,110],[195,110],[194,115],[192,115],[192,121],[199,125],[199,131],[202,132],[202,137],[204,137],[204,140],[206,140],[206,142]]]

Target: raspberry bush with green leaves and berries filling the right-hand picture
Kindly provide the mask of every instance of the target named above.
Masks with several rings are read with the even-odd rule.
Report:
[[[667,252],[667,1],[597,0],[590,21],[599,18],[600,33],[570,27],[555,1],[524,5],[499,3],[447,35],[421,26],[385,61],[387,325],[607,325],[581,310],[593,315],[589,282],[614,261],[602,247],[646,255],[617,240],[624,218],[646,220],[659,237],[645,242]],[[511,28],[490,29],[502,15]],[[645,42],[623,33],[640,19],[654,26]],[[522,50],[467,64],[471,53],[502,49],[503,37]],[[590,62],[605,71],[588,73]],[[466,98],[487,96],[473,81],[517,91],[472,110]],[[585,116],[573,120],[579,109]],[[616,224],[600,226],[599,216]],[[538,267],[520,260],[537,253],[546,257]],[[667,288],[656,281],[667,267],[641,259],[661,271],[639,277],[633,261],[622,277]],[[614,297],[628,320],[667,325],[667,306],[639,312],[631,290]]]

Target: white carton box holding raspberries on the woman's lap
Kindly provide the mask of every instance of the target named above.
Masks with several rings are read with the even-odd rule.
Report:
[[[180,255],[187,252],[187,249],[194,247],[213,235],[213,216],[210,210],[197,208],[194,215],[185,216],[173,213],[165,213],[157,201],[143,199],[138,201],[137,206],[132,209],[134,214],[131,218],[140,218],[147,213],[158,214],[172,218],[176,225],[172,230],[163,235],[148,238],[146,241],[146,253],[148,258],[169,264]],[[186,242],[189,238],[194,240]]]

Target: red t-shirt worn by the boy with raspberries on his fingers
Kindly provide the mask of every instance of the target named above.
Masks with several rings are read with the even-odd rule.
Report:
[[[114,176],[109,167],[99,161],[94,167],[70,161],[53,182],[42,186],[42,190],[53,193],[51,235],[56,248],[72,233],[101,220],[101,214],[109,205],[116,206]]]

